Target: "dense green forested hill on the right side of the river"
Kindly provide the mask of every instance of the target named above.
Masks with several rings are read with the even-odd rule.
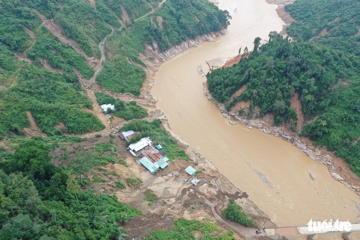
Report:
[[[250,100],[239,114],[252,117],[258,106],[260,117],[272,113],[275,125],[290,123],[293,131],[298,119],[290,103],[298,93],[310,122],[300,135],[335,151],[360,175],[359,1],[299,0],[286,10],[296,20],[288,27],[295,41],[272,32],[258,47],[256,38],[249,57],[207,75],[209,91],[228,110]],[[323,29],[325,35],[317,35]],[[247,90],[234,97],[244,85]]]

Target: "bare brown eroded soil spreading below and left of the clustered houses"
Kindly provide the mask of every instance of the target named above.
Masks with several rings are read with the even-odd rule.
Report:
[[[229,197],[237,199],[238,205],[242,206],[244,211],[252,216],[258,225],[274,226],[266,215],[247,199],[246,193],[234,187],[208,160],[192,150],[187,153],[193,160],[177,159],[170,161],[167,169],[152,175],[144,171],[144,167],[134,161],[126,150],[124,141],[119,137],[110,138],[108,135],[89,137],[87,141],[75,143],[66,148],[68,152],[72,152],[74,149],[89,150],[97,143],[107,142],[110,139],[114,141],[120,156],[126,159],[128,167],[120,164],[108,164],[102,168],[91,170],[83,177],[92,179],[96,174],[105,179],[106,182],[93,183],[88,188],[98,194],[115,194],[119,201],[142,210],[142,216],[123,225],[129,233],[129,239],[143,239],[149,231],[169,230],[173,227],[173,221],[181,217],[197,220],[213,219],[220,227],[233,230],[236,239],[244,237],[258,239],[259,236],[255,234],[254,228],[245,228],[223,218],[222,209],[226,206]],[[52,153],[55,165],[61,164],[62,155],[64,152],[60,149]],[[70,160],[63,162],[65,165],[69,163]],[[196,176],[200,179],[197,186],[190,183],[193,177],[184,171],[190,165],[203,171]],[[179,175],[174,174],[175,172],[178,172]],[[141,186],[133,187],[127,183],[126,178],[134,176],[142,179],[143,184]],[[183,184],[184,178],[189,180]],[[126,185],[126,189],[119,189],[116,186],[114,182],[119,180]],[[144,192],[147,189],[153,193],[155,198],[155,202],[150,206],[144,199]]]

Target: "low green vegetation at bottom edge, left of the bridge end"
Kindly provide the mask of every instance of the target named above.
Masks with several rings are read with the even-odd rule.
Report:
[[[196,236],[196,238],[195,238]],[[174,221],[172,230],[152,231],[146,240],[235,240],[232,231],[220,233],[218,225],[212,221],[200,222],[198,220],[186,220],[180,218]]]

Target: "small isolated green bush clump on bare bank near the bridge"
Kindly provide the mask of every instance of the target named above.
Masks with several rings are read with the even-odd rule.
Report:
[[[242,207],[235,203],[234,198],[229,198],[229,203],[224,209],[223,214],[226,219],[237,222],[245,227],[254,227],[255,222],[249,218],[243,211]]]

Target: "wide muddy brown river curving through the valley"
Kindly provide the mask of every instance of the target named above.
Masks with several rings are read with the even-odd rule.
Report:
[[[204,42],[164,63],[151,94],[173,132],[209,159],[219,172],[252,200],[278,226],[306,225],[325,219],[356,222],[358,195],[335,181],[326,167],[280,137],[228,123],[203,95],[207,60],[227,59],[253,39],[268,39],[284,22],[276,5],[265,0],[220,0],[232,16],[226,34]],[[312,180],[309,173],[315,180]]]

